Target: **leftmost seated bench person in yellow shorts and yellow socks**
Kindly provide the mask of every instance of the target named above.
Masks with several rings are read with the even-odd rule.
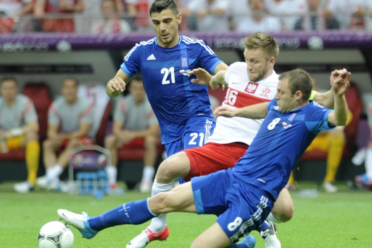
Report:
[[[27,181],[15,184],[14,189],[28,193],[35,187],[39,168],[38,116],[31,99],[18,93],[14,77],[1,79],[0,91],[1,152],[26,147]]]

